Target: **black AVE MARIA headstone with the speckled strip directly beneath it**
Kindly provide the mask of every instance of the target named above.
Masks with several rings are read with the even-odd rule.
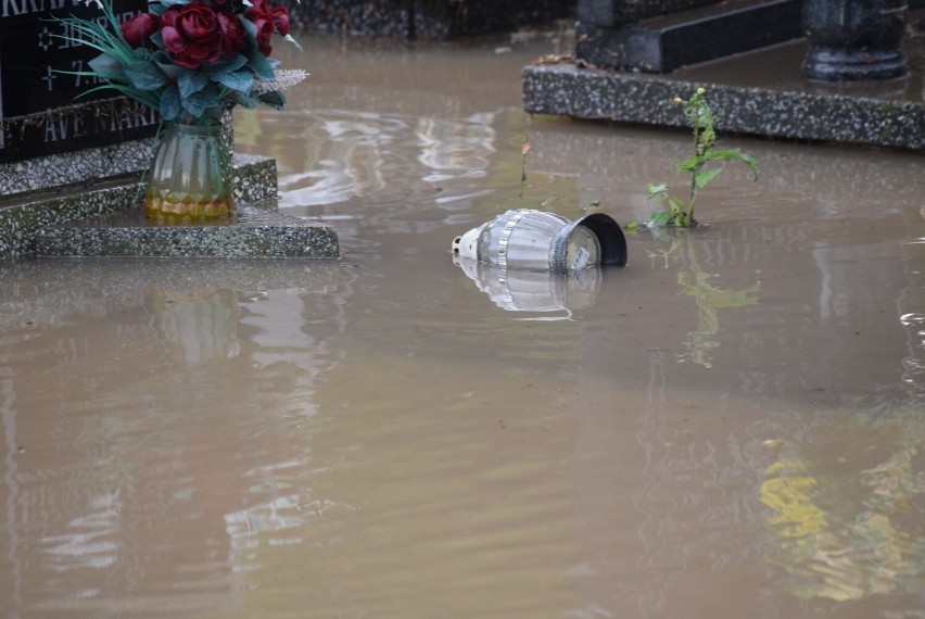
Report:
[[[147,5],[145,0],[116,0],[115,10],[127,18]],[[103,93],[75,101],[97,84],[73,73],[86,71],[98,52],[67,40],[67,26],[55,18],[72,14],[92,18],[99,13],[96,5],[67,0],[2,3],[0,194],[139,169],[147,149],[131,141],[154,134],[154,112]],[[111,156],[48,159],[101,147],[110,147]]]

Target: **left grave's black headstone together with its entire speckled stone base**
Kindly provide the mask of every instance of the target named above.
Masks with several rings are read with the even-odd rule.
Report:
[[[147,8],[113,1],[119,22]],[[235,200],[245,204],[226,225],[149,225],[141,180],[160,117],[112,90],[87,93],[100,84],[75,72],[99,52],[68,39],[59,18],[71,15],[105,23],[92,2],[0,3],[0,257],[339,257],[328,226],[276,212],[266,156],[233,155]]]

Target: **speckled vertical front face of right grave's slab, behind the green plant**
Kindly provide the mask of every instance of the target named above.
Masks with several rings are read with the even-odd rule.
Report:
[[[686,126],[681,108],[670,101],[698,87],[710,92],[723,131],[925,152],[925,102],[682,81],[573,64],[531,65],[522,73],[527,112],[670,127]]]

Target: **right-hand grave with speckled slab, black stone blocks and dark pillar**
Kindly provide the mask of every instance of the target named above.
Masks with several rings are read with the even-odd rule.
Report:
[[[925,0],[806,0],[807,41],[803,0],[579,0],[574,62],[524,66],[523,109],[687,127],[671,101],[706,88],[723,131],[925,152],[907,3],[917,24]]]

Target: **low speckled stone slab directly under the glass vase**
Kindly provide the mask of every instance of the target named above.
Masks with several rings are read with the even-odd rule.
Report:
[[[151,222],[141,209],[50,226],[36,235],[38,256],[337,258],[329,226],[240,204],[227,220],[197,225]]]

